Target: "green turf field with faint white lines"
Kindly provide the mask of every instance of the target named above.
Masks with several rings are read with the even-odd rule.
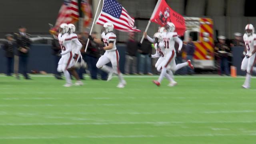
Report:
[[[127,86],[0,77],[0,144],[255,144],[256,79],[126,77]]]

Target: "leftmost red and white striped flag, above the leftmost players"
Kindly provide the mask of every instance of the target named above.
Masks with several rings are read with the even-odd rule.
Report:
[[[60,24],[74,23],[79,19],[79,9],[77,0],[64,0],[62,6],[60,7],[59,14],[56,20],[54,28],[50,30],[50,33],[55,33]]]

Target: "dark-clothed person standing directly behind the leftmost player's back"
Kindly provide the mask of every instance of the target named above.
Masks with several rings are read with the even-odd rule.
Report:
[[[60,72],[57,71],[58,62],[60,60],[59,51],[61,50],[59,41],[57,39],[52,39],[52,55],[54,56],[54,76],[55,78],[62,80]]]

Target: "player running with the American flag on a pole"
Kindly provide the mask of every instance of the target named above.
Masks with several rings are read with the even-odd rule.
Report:
[[[118,88],[124,88],[126,81],[124,80],[122,73],[119,70],[119,54],[116,49],[116,34],[113,33],[114,25],[110,22],[106,22],[103,26],[103,32],[101,39],[92,38],[90,40],[97,42],[98,44],[104,44],[103,50],[106,50],[103,56],[101,56],[96,64],[97,68],[108,73],[108,81],[112,79],[112,75],[117,74],[119,78]],[[111,62],[112,68],[106,66],[108,62]]]

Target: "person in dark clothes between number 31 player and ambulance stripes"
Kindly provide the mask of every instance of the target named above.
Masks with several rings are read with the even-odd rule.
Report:
[[[194,42],[192,42],[193,38],[190,36],[188,38],[188,43],[186,45],[186,53],[187,53],[187,60],[191,60],[193,64],[193,57],[194,57],[194,52],[196,49],[196,46],[194,45]],[[192,70],[189,66],[187,68],[188,74],[194,74],[194,70]]]

